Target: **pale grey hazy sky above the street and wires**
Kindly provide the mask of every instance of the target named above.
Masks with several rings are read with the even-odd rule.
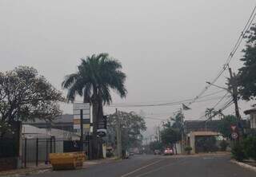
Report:
[[[106,52],[122,62],[126,100],[155,104],[190,99],[226,61],[255,5],[254,0],[0,0],[0,71],[30,65],[56,88],[74,73],[79,58]],[[241,48],[242,49],[242,48]],[[242,65],[241,49],[231,67]],[[218,81],[224,85],[226,72]],[[216,92],[210,88],[206,92]],[[202,100],[219,98],[225,92]],[[187,120],[198,119],[218,99],[191,105]],[[224,104],[225,101],[222,103]],[[222,104],[219,106],[221,107]],[[240,103],[241,111],[250,104]],[[180,105],[142,108],[166,119]],[[62,105],[72,113],[71,105]],[[114,108],[105,108],[114,112]],[[233,113],[231,106],[226,113]],[[158,120],[146,120],[150,130]]]

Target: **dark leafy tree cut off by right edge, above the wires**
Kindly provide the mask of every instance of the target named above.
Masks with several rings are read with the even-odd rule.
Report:
[[[244,100],[254,99],[256,96],[256,24],[250,28],[245,36],[246,48],[241,61],[242,68],[238,69],[238,91]]]

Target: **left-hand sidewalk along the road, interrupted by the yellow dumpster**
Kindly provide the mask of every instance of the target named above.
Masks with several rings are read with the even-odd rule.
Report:
[[[102,164],[102,163],[114,163],[118,162],[119,159],[116,158],[108,158],[108,159],[96,159],[96,160],[86,160],[83,163],[82,167],[78,167],[79,169],[86,169],[87,167],[91,167],[94,165]],[[52,167],[50,164],[44,164],[41,163],[38,165],[38,167],[27,167],[27,168],[21,168],[17,170],[10,170],[10,171],[0,171],[0,176],[9,176],[9,177],[18,177],[22,175],[33,175],[33,174],[40,174],[40,173],[46,173],[52,171]]]

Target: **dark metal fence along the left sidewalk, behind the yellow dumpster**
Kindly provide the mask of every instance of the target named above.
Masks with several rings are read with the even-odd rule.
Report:
[[[101,139],[99,139],[101,140]],[[88,159],[93,153],[101,154],[101,141],[98,140],[98,150],[93,152],[92,136],[85,136],[83,151]],[[50,153],[81,151],[79,140],[58,140],[50,138],[23,138],[21,142],[14,139],[0,139],[0,158],[18,157],[21,153],[22,167],[38,166],[39,163],[49,163]],[[19,149],[21,148],[21,149]]]

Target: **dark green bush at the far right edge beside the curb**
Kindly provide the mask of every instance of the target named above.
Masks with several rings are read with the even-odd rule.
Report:
[[[256,136],[248,136],[242,144],[246,156],[256,160]]]

